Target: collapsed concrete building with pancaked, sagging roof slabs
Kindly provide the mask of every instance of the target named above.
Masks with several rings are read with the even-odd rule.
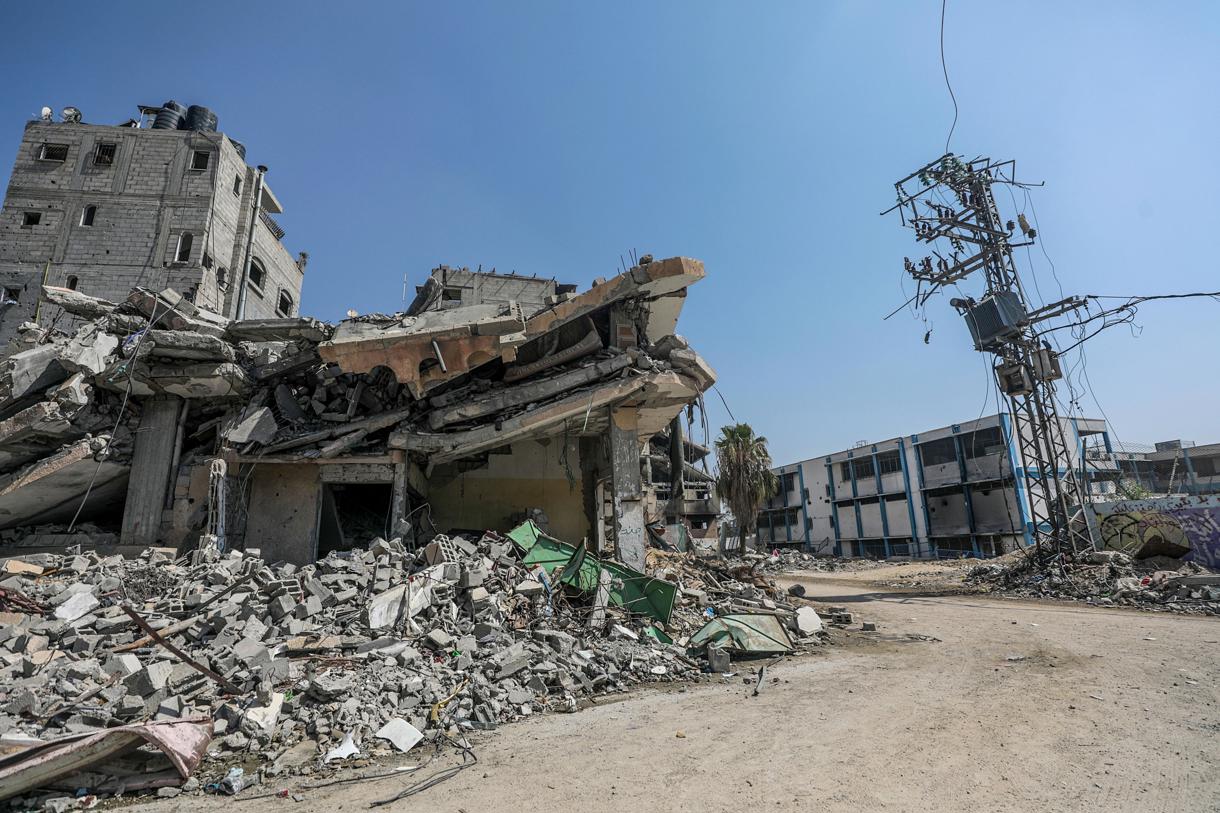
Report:
[[[0,363],[0,540],[188,549],[207,533],[304,564],[532,519],[643,570],[649,533],[715,521],[693,465],[706,449],[683,439],[682,477],[667,453],[715,381],[676,333],[703,276],[645,256],[576,293],[440,267],[405,313],[333,326],[46,286],[41,308],[79,327],[27,325]]]

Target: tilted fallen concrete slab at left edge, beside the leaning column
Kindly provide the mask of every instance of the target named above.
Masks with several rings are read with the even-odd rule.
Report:
[[[26,469],[0,479],[0,529],[68,522],[122,504],[129,468],[94,458],[96,441],[78,441]],[[95,476],[96,472],[96,476]],[[89,487],[90,481],[93,487]]]

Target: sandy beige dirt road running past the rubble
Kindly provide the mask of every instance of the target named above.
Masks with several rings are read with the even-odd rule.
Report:
[[[886,586],[913,566],[789,579],[880,631],[769,669],[758,697],[736,679],[509,725],[388,809],[1220,811],[1220,620]],[[306,779],[300,803],[138,809],[360,811],[411,781]]]

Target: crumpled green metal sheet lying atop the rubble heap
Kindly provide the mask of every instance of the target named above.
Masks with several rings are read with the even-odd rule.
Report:
[[[645,576],[619,563],[604,562],[589,553],[582,542],[572,547],[547,536],[542,529],[526,520],[509,531],[509,538],[525,552],[525,564],[542,565],[548,575],[561,571],[560,581],[582,593],[595,594],[598,573],[610,574],[610,604],[669,624],[677,598],[677,585]]]

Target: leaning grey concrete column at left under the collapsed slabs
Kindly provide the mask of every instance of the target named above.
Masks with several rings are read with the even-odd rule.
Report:
[[[165,496],[170,492],[173,476],[170,469],[178,435],[178,411],[183,406],[182,399],[174,396],[144,402],[132,452],[127,504],[123,507],[123,544],[156,543]]]

